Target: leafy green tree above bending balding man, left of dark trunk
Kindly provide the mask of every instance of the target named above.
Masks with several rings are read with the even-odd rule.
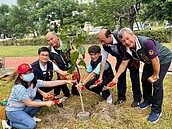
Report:
[[[119,22],[119,17],[115,17],[115,13],[119,12],[124,15],[127,13],[125,7],[131,4],[132,0],[96,0],[95,3],[89,4],[87,16],[95,26],[101,25],[114,29],[115,19]],[[126,19],[123,20],[126,24]]]

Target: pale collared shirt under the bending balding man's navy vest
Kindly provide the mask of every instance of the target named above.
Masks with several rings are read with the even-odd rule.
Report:
[[[116,41],[114,35],[111,34],[111,36],[112,36],[113,45],[118,44],[118,42]],[[108,46],[111,47],[112,44],[109,44]],[[102,61],[107,60],[108,59],[108,55],[109,55],[109,53],[107,51],[105,51],[104,48],[102,47]]]

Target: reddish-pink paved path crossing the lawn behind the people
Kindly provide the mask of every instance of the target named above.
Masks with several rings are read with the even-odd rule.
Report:
[[[28,63],[31,64],[32,62],[36,61],[38,57],[6,57],[3,58],[3,63],[5,64],[5,68],[17,68],[17,66],[21,63]],[[88,65],[90,58],[89,55],[86,55],[84,61],[86,62],[86,65]],[[112,67],[115,67],[116,59],[115,57],[109,55],[108,61],[111,63]],[[142,64],[140,70],[142,71]],[[169,68],[170,73],[172,74],[172,63]]]

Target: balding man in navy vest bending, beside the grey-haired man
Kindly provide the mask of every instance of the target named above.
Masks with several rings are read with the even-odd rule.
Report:
[[[112,56],[116,57],[117,63],[115,70],[117,71],[119,65],[122,62],[123,58],[123,51],[125,46],[122,45],[120,40],[117,38],[116,34],[112,34],[108,29],[101,29],[98,34],[99,40],[102,44],[102,62],[101,62],[101,70],[100,70],[100,77],[99,80],[102,80],[102,75],[105,68],[105,63],[108,58],[108,54],[110,53]],[[130,70],[130,77],[132,82],[132,90],[133,90],[133,103],[131,107],[138,107],[142,98],[141,91],[140,91],[140,80],[139,80],[139,67],[137,64],[133,63],[136,62],[131,60],[128,64],[128,68]],[[118,90],[118,99],[114,102],[115,105],[121,104],[126,100],[126,71],[121,74],[119,77],[119,83],[117,84]]]

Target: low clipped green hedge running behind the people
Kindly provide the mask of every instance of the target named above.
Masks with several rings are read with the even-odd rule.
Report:
[[[150,38],[153,38],[160,43],[170,43],[172,39],[172,29],[161,29],[161,30],[145,30],[145,31],[136,31],[136,35],[144,35]],[[99,44],[98,35],[87,35],[85,44]],[[29,38],[29,39],[10,39],[5,41],[0,41],[1,46],[11,46],[11,45],[43,45],[46,46],[47,42],[45,37],[39,38]]]

